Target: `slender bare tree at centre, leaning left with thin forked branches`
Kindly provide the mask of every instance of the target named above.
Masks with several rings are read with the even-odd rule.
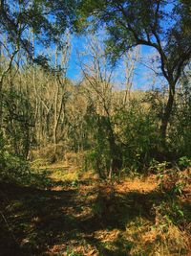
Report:
[[[114,172],[120,169],[122,162],[120,159],[120,149],[117,146],[114,126],[111,120],[113,111],[112,78],[114,67],[108,64],[108,56],[104,47],[95,37],[91,38],[89,41],[87,54],[89,56],[88,62],[84,63],[81,60],[80,67],[88,98],[93,105],[96,105],[96,113],[101,119],[104,119],[104,123],[106,124],[111,158],[108,176],[111,178]]]

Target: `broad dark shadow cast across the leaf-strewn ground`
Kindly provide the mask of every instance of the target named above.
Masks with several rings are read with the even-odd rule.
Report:
[[[98,254],[93,251],[92,255],[128,255],[131,241],[117,235],[109,246],[96,232],[125,230],[128,222],[140,216],[154,221],[153,204],[168,199],[156,191],[116,193],[107,198],[96,184],[87,189],[80,182],[74,187],[50,180],[46,174],[35,178],[38,188],[0,184],[2,256],[67,255],[67,251],[70,255],[69,248],[77,246],[95,248]],[[57,186],[62,188],[56,190]]]

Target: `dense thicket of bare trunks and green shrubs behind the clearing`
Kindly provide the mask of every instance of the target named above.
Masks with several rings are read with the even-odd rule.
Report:
[[[84,167],[105,178],[121,170],[145,172],[154,159],[191,156],[189,71],[180,81],[164,151],[159,126],[165,92],[132,91],[124,103],[126,90],[112,89],[110,75],[103,77],[109,70],[92,67],[74,84],[37,66],[12,66],[3,89],[2,168],[8,154],[53,162],[83,151]]]

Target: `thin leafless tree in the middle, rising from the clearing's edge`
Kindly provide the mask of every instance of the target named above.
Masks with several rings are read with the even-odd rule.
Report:
[[[112,122],[112,112],[115,108],[112,88],[114,68],[109,65],[108,55],[97,38],[92,38],[89,41],[86,54],[89,57],[88,62],[80,61],[80,67],[84,77],[84,87],[91,105],[90,108],[93,110],[94,120],[96,121],[94,125],[93,120],[90,123],[93,127],[96,125],[97,148],[99,148],[100,155],[104,155],[107,148],[106,144],[108,144],[107,156],[109,156],[110,163],[107,175],[111,178],[121,168],[121,151],[117,145]],[[91,116],[91,113],[88,114]]]

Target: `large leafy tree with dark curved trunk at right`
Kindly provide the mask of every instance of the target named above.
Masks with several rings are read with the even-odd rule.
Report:
[[[191,58],[190,8],[187,0],[82,0],[79,5],[79,16],[88,20],[86,25],[106,25],[113,60],[138,45],[153,47],[159,53],[161,74],[168,83],[160,126],[164,145],[176,86]]]

